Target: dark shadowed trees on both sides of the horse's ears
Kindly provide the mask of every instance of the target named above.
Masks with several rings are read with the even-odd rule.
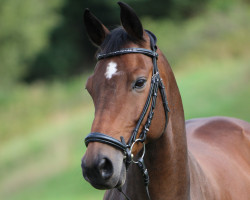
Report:
[[[194,15],[196,10],[200,11],[206,5],[207,0],[128,0],[127,2],[139,15],[183,18]],[[106,26],[119,25],[119,7],[114,1],[66,1],[61,10],[62,23],[51,33],[50,45],[30,65],[26,80],[66,78],[79,71],[93,68],[93,55],[96,48],[89,42],[82,20],[83,9],[87,7]]]

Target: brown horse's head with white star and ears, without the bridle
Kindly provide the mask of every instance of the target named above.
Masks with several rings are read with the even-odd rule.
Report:
[[[150,114],[150,109],[145,110],[145,102],[148,102],[148,107],[153,104],[152,100],[147,101],[154,76],[152,57],[145,55],[146,53],[116,52],[121,49],[151,51],[153,34],[143,29],[141,21],[128,5],[121,2],[118,4],[121,9],[122,26],[112,31],[109,31],[89,10],[85,10],[84,13],[89,38],[99,48],[99,57],[104,55],[104,58],[97,62],[94,74],[88,78],[86,84],[95,106],[91,132],[105,134],[117,141],[120,141],[122,136],[122,142],[126,146],[125,144],[131,140],[138,120],[141,120],[138,133],[142,132],[145,123],[150,121],[150,130],[147,130],[147,137],[144,138],[147,144],[160,138],[166,125],[164,99],[159,98],[163,95],[159,90],[153,90],[156,94],[152,94],[158,96],[156,103],[154,102],[154,117],[140,119],[143,112],[145,116]],[[110,52],[113,54],[109,56]],[[159,69],[157,73],[161,74],[163,84],[167,87],[164,68],[167,61],[159,49],[156,52],[159,55],[158,60],[155,60]],[[162,81],[159,78],[156,80]],[[136,138],[139,135],[137,134]],[[142,149],[143,143],[138,142],[133,145],[131,153],[136,157],[141,154]],[[91,141],[82,158],[83,176],[97,189],[120,187],[126,180],[125,157],[121,149],[109,145],[108,142]]]

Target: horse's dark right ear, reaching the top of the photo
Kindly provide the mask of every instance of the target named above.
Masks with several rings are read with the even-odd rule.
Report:
[[[143,27],[135,11],[126,3],[118,2],[121,8],[121,23],[126,32],[133,38],[143,39]]]

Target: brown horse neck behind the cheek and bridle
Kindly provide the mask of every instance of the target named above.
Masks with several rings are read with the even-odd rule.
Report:
[[[187,158],[187,142],[185,119],[181,96],[174,74],[167,62],[161,56],[164,66],[159,70],[166,86],[169,103],[169,121],[167,129],[161,138],[146,146],[145,164],[149,171],[149,192],[151,199],[189,199],[189,170]],[[166,78],[167,76],[167,78]],[[127,192],[132,199],[147,199],[145,186],[137,166],[128,172]]]

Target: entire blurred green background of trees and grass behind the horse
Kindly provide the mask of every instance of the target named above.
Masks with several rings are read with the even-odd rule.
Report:
[[[250,1],[126,1],[158,37],[182,94],[186,119],[250,121]],[[0,1],[0,199],[97,200],[81,175],[94,108],[84,90],[95,48],[89,7],[109,28],[111,0]]]

